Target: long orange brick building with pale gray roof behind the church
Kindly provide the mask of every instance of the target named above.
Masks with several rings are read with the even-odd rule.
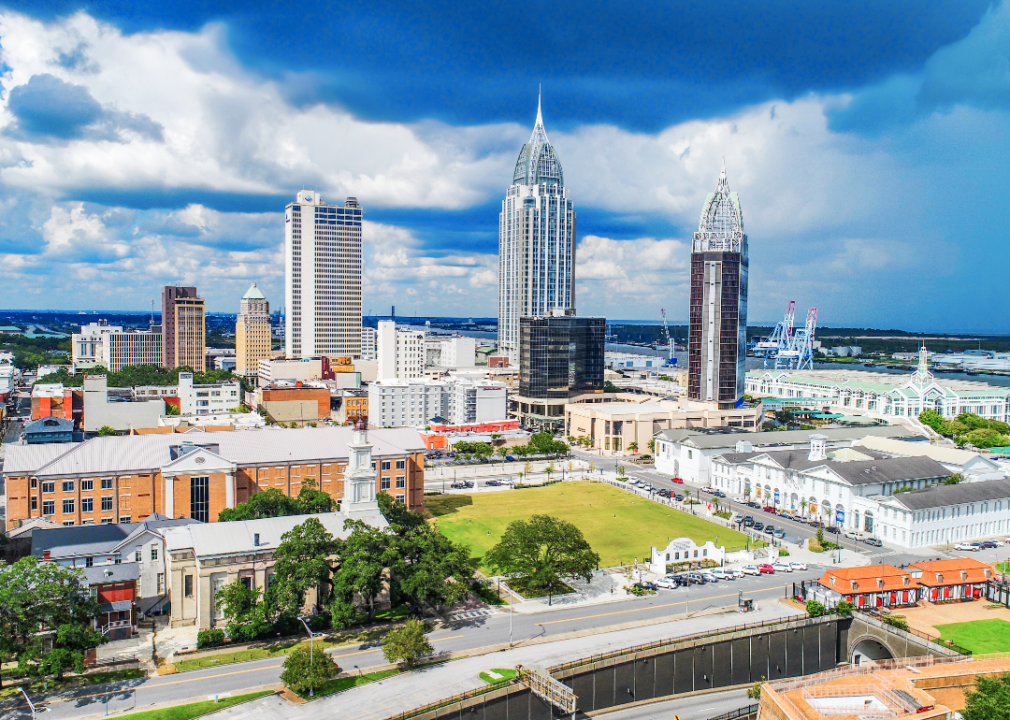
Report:
[[[416,430],[376,430],[373,481],[409,508],[424,504],[424,443]],[[297,496],[311,481],[344,496],[351,429],[93,437],[6,447],[7,527],[44,517],[64,524],[131,522],[161,513],[217,520],[224,508],[275,488]]]

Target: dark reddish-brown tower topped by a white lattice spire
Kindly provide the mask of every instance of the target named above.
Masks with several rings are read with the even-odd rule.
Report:
[[[733,407],[743,398],[747,347],[747,236],[726,163],[691,247],[688,397]]]

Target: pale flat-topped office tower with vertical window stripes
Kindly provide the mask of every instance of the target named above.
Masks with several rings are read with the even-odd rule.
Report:
[[[303,190],[284,213],[284,351],[360,357],[362,208],[327,205]]]

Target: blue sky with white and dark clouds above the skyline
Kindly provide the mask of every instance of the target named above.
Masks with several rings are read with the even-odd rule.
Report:
[[[3,308],[279,307],[313,188],[365,208],[366,312],[494,316],[542,84],[580,314],[686,318],[725,158],[752,322],[1010,331],[1010,0],[0,1],[0,72]]]

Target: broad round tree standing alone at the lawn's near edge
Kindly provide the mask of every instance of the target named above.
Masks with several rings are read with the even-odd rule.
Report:
[[[533,515],[528,521],[509,523],[498,544],[484,556],[484,563],[510,581],[546,591],[550,604],[566,580],[582,578],[590,582],[600,555],[572,523],[549,515]]]

